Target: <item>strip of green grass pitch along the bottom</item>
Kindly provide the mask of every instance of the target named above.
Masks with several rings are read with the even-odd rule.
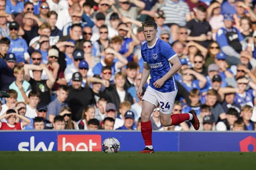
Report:
[[[1,170],[252,170],[256,152],[0,152]]]

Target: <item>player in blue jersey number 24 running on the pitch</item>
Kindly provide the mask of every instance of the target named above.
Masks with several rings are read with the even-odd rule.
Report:
[[[138,99],[142,100],[141,133],[146,145],[141,152],[153,153],[150,115],[158,104],[160,105],[160,122],[165,127],[189,120],[198,130],[199,121],[194,110],[171,115],[178,92],[174,74],[181,68],[180,60],[168,43],[156,37],[157,24],[154,21],[145,21],[142,27],[147,43],[144,43],[141,48],[144,68],[137,90]],[[150,84],[142,98],[142,87],[149,75],[151,76]]]

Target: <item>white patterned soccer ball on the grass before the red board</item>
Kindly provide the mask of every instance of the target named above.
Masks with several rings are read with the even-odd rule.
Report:
[[[109,137],[103,141],[102,149],[105,153],[116,153],[120,150],[120,143],[116,138]]]

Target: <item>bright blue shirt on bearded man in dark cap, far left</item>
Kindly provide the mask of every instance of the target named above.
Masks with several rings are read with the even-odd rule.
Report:
[[[8,53],[14,53],[16,56],[16,63],[26,62],[24,59],[24,53],[28,52],[28,45],[24,39],[17,38],[11,39],[10,36],[7,37],[10,39],[10,49]]]

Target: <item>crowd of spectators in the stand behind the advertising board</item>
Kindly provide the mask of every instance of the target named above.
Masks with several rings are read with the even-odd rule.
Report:
[[[154,20],[182,64],[173,114],[256,130],[255,12],[253,0],[0,0],[0,129],[140,130],[142,22]],[[192,130],[163,127],[159,107],[153,130]]]

